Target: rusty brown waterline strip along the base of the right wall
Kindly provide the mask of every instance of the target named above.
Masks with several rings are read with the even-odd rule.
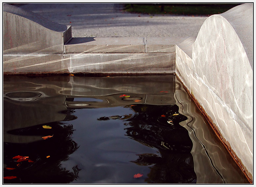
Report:
[[[211,117],[206,113],[206,111],[204,110],[204,108],[199,104],[199,102],[197,101],[197,99],[194,97],[193,94],[191,94],[189,92],[189,90],[187,89],[187,87],[183,84],[183,82],[181,81],[181,79],[176,75],[177,79],[180,81],[180,83],[182,84],[183,88],[185,89],[185,91],[187,92],[187,94],[189,95],[189,97],[194,101],[194,103],[196,104],[197,108],[200,110],[200,112],[202,113],[202,115],[204,116],[204,118],[207,120],[207,122],[210,124],[210,126],[212,127],[214,133],[216,134],[216,136],[219,138],[219,140],[222,142],[222,144],[224,145],[224,147],[227,149],[227,151],[229,152],[229,154],[231,155],[231,157],[233,158],[233,160],[236,162],[236,164],[239,166],[239,168],[242,170],[243,174],[245,175],[245,177],[247,178],[247,180],[249,181],[250,184],[253,183],[252,180],[252,175],[248,172],[248,170],[243,166],[241,159],[239,159],[236,155],[236,153],[234,152],[234,150],[231,148],[230,143],[221,135],[219,128],[217,127],[217,125],[213,122],[213,120],[211,119]]]

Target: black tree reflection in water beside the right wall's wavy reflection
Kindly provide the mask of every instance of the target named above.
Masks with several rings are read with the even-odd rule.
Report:
[[[157,149],[158,154],[138,154],[131,161],[149,166],[147,183],[196,183],[192,141],[187,130],[179,125],[187,118],[179,114],[177,105],[155,106],[129,105],[135,114],[100,117],[98,120],[123,120],[126,136],[148,147]]]

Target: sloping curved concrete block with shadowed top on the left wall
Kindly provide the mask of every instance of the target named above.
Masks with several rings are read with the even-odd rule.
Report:
[[[52,22],[36,13],[3,4],[3,52],[64,53],[71,26]]]

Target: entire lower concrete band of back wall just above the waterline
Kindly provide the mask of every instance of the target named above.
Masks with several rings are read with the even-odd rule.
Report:
[[[174,53],[5,54],[4,74],[173,73]]]

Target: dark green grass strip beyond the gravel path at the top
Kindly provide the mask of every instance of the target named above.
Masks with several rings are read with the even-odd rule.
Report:
[[[240,3],[241,4],[241,3]],[[130,13],[144,14],[175,14],[175,15],[212,15],[226,12],[227,10],[239,5],[239,3],[184,3],[184,4],[164,4],[164,10],[161,11],[161,5],[154,4],[125,4],[124,11]]]

